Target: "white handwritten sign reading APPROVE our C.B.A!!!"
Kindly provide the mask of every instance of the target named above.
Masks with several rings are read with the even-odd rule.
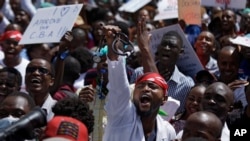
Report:
[[[19,44],[56,43],[72,29],[83,4],[40,8]]]

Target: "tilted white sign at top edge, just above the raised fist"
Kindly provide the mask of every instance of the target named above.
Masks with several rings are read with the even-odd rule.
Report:
[[[130,0],[119,7],[119,11],[135,13],[137,10],[148,4],[151,0]]]

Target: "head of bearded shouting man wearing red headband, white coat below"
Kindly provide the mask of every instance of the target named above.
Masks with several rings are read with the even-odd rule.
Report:
[[[166,102],[167,83],[156,73],[146,73],[138,78],[133,95],[137,113],[142,117],[156,115]]]

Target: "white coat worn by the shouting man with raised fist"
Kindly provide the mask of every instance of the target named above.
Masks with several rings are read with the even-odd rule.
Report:
[[[121,56],[118,61],[108,59],[109,93],[105,105],[107,126],[103,141],[145,141],[140,116],[131,101],[124,62],[124,57]],[[169,122],[160,115],[157,115],[156,122],[156,141],[176,138],[175,130]]]

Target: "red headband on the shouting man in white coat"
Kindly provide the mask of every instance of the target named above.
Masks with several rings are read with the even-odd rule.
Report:
[[[163,89],[163,91],[166,92],[165,94],[167,95],[168,84],[160,74],[154,73],[154,72],[145,73],[144,75],[140,76],[136,80],[135,85],[137,85],[137,84],[139,84],[139,83],[141,83],[143,81],[152,81],[152,82],[154,82],[155,84],[159,85]]]

